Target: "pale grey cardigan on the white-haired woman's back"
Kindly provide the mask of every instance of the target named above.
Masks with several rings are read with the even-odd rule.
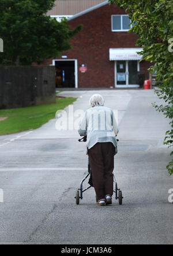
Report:
[[[86,110],[78,133],[87,136],[87,147],[91,149],[98,142],[111,142],[117,149],[115,136],[118,134],[114,112],[105,106],[95,106]]]

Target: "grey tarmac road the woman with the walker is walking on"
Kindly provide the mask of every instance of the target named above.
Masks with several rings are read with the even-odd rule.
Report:
[[[98,91],[97,91],[98,92]],[[87,109],[93,91],[65,91]],[[101,91],[119,110],[115,175],[123,205],[98,207],[93,188],[76,205],[74,194],[87,172],[85,144],[76,131],[57,131],[55,119],[35,131],[0,136],[0,243],[172,244],[173,188],[163,146],[168,120],[151,103],[152,90]]]

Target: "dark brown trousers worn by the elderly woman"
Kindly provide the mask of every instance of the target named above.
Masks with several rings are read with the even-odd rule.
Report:
[[[88,150],[93,186],[98,199],[113,195],[115,147],[111,142],[97,143]]]

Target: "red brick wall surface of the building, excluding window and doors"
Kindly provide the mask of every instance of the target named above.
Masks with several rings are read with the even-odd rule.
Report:
[[[78,60],[78,87],[114,87],[114,61],[109,60],[109,49],[136,47],[135,34],[111,31],[112,14],[126,13],[116,5],[105,5],[69,21],[72,28],[83,24],[82,31],[70,39],[73,49],[62,53],[67,55],[67,59]],[[44,64],[52,64],[53,59],[55,58]],[[81,64],[88,65],[88,72],[79,71]],[[146,62],[140,65],[141,71],[144,70],[146,75],[147,65]]]

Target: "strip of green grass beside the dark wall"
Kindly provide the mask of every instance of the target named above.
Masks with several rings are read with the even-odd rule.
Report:
[[[57,98],[57,103],[50,105],[40,105],[32,107],[22,107],[18,109],[0,110],[0,135],[36,129],[55,118],[57,110],[76,101],[76,98]]]

